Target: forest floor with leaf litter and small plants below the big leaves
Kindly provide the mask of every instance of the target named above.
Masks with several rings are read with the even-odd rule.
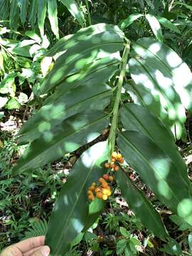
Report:
[[[109,130],[105,129],[95,141],[74,151],[73,154],[38,168],[33,173],[12,177],[11,169],[25,149],[25,146],[17,146],[14,138],[26,119],[27,109],[9,111],[0,120],[0,250],[23,238],[46,233],[55,198],[68,178],[71,167],[83,151],[92,144],[107,139],[109,133]],[[177,146],[188,165],[188,175],[192,181],[190,120],[191,118],[188,118],[186,122],[188,142],[179,141]],[[191,255],[188,252],[188,235],[192,230],[183,232],[182,227],[178,230],[178,226],[170,219],[171,211],[159,203],[134,170],[127,167],[127,175],[144,191],[159,211],[171,238],[181,245],[183,255]],[[139,240],[138,255],[166,255],[161,251],[164,243],[142,226],[117,187],[97,223],[68,255],[117,255],[117,241],[123,239],[120,227],[129,230]]]

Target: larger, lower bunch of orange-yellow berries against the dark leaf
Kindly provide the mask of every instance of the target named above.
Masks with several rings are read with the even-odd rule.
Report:
[[[102,178],[99,178],[98,186],[95,182],[92,183],[92,185],[88,190],[88,198],[90,199],[90,201],[93,201],[95,199],[95,196],[98,199],[107,200],[108,196],[111,196],[112,194],[111,187],[109,183],[107,183],[107,181],[113,181],[113,180],[114,180],[113,176],[104,174]]]

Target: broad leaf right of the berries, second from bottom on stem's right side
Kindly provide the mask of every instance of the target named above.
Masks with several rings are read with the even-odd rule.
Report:
[[[169,156],[139,132],[122,132],[117,143],[124,159],[154,191],[156,197],[192,224],[192,198],[188,183],[183,180]]]

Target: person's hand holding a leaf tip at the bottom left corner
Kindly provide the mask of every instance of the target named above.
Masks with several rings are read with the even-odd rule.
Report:
[[[45,236],[29,238],[7,247],[0,256],[48,256],[50,248],[45,245]]]

